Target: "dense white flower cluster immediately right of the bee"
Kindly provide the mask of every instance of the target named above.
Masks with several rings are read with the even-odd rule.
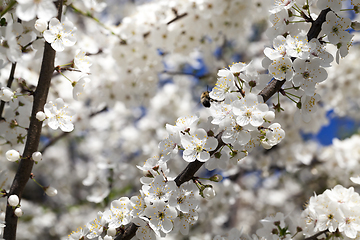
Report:
[[[209,94],[213,99],[210,123],[212,133],[220,136],[230,150],[222,152],[227,155],[223,159],[235,156],[241,159],[257,145],[269,149],[278,144],[285,137],[285,131],[280,124],[271,123],[275,113],[257,95],[270,80],[268,75],[254,72],[251,63],[235,63],[220,70],[218,76],[216,86]],[[213,158],[206,166],[215,169],[218,164],[219,161]]]

